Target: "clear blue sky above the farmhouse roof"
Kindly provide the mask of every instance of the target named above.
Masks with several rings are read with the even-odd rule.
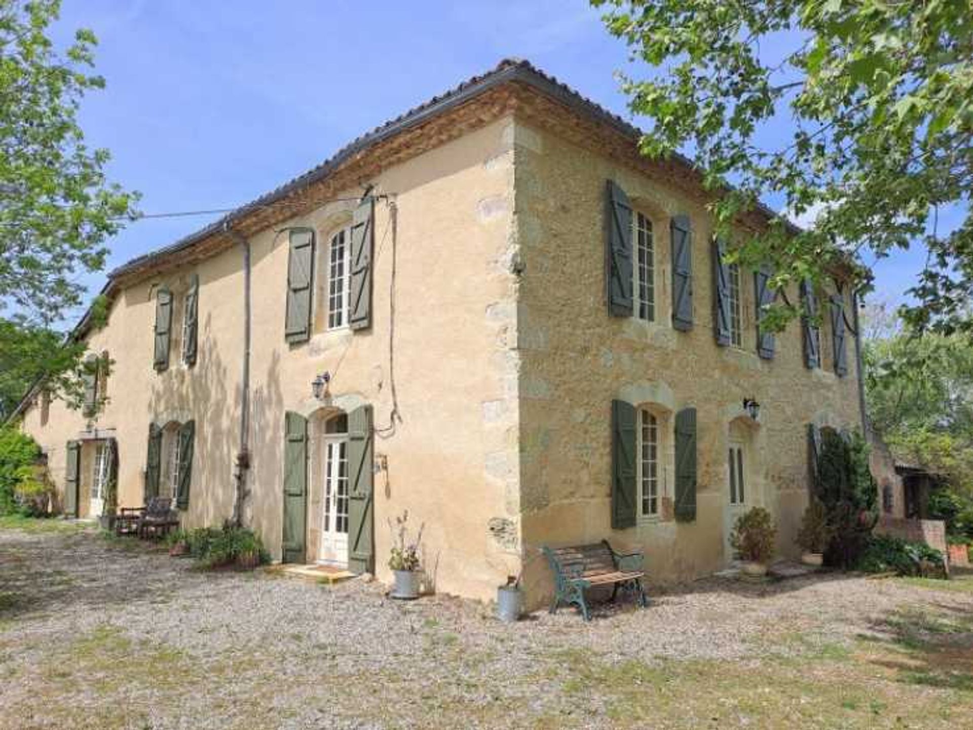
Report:
[[[107,82],[81,122],[145,213],[246,202],[505,56],[631,118],[613,76],[631,69],[628,52],[583,0],[64,0],[55,36],[79,26],[98,37]],[[110,242],[109,267],[212,218],[134,223]],[[883,261],[880,295],[900,297],[920,259]],[[84,281],[95,292],[104,276]]]

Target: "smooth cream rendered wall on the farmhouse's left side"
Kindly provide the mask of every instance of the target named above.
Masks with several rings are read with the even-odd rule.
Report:
[[[512,129],[509,118],[492,122],[368,181],[376,192],[389,195],[398,210],[393,241],[389,200],[377,203],[369,330],[326,330],[326,298],[319,295],[325,280],[319,277],[314,336],[291,347],[283,335],[288,245],[281,229],[313,227],[323,257],[330,234],[346,224],[352,203],[322,201],[312,213],[252,237],[252,470],[245,518],[274,558],[280,557],[282,529],[284,414],[320,415],[315,413],[319,404],[310,399],[310,382],[329,371],[336,402],[348,407],[371,403],[375,408],[378,577],[389,578],[387,520],[406,509],[414,528],[425,525],[424,564],[438,589],[486,599],[506,574],[516,572],[516,554],[511,554],[519,530],[516,277],[509,255],[516,232]],[[343,191],[339,197],[361,192]],[[393,255],[394,382],[389,307]],[[323,261],[316,270],[326,270]],[[165,283],[178,294],[193,271],[200,282],[198,363],[193,368],[176,365],[177,295],[173,365],[156,373],[155,288]],[[91,426],[114,430],[118,437],[120,504],[142,504],[150,421],[162,425],[194,418],[192,495],[183,524],[219,525],[231,516],[242,292],[241,252],[234,248],[126,289],[112,306],[107,327],[90,334],[91,349],[106,349],[116,361],[110,400]],[[401,418],[394,425],[393,388]],[[54,479],[63,490],[64,444],[85,431],[86,422],[59,401],[52,404],[44,425],[40,411],[38,406],[27,409],[24,428],[48,452]],[[312,449],[322,446],[317,423],[312,419]],[[316,556],[320,523],[319,465],[312,454],[309,560]],[[90,466],[85,463],[83,469],[84,497]],[[499,536],[491,532],[491,524],[502,525]]]

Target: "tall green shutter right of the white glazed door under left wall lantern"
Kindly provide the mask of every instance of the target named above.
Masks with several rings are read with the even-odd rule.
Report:
[[[348,570],[375,572],[372,406],[348,413]]]

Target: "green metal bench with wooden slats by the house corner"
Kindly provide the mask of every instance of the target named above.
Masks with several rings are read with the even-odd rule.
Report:
[[[641,552],[616,552],[606,539],[588,545],[544,545],[541,549],[554,573],[555,593],[551,613],[557,613],[561,604],[574,604],[581,609],[584,619],[591,621],[585,590],[598,585],[613,586],[612,601],[621,588],[631,592],[642,608],[649,605],[642,588],[645,571],[642,570],[644,555]]]

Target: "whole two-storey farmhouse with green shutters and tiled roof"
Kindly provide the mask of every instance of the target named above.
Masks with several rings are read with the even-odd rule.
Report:
[[[534,606],[543,544],[687,578],[763,505],[796,554],[809,427],[863,424],[855,301],[802,287],[821,320],[762,332],[768,273],[722,260],[699,173],[638,136],[505,60],[112,271],[73,335],[110,373],[82,410],[18,409],[63,508],[99,514],[116,476],[120,505],[239,514],[274,560],[384,580],[408,510],[438,590],[523,571]]]

